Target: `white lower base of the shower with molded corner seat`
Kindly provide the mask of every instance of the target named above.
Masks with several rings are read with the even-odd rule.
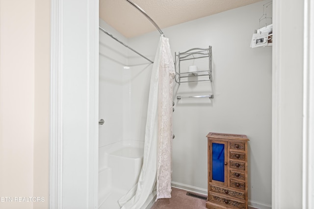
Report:
[[[122,140],[99,148],[99,209],[120,209],[118,200],[138,181],[143,147],[143,141]],[[150,194],[142,209],[150,209],[155,196]]]

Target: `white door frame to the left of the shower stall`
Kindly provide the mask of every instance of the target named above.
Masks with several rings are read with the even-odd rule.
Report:
[[[77,7],[76,4],[86,5]],[[71,23],[71,8],[70,4],[73,4],[72,11],[75,9],[75,13],[84,14],[84,21],[80,25],[72,25]],[[70,5],[70,6],[69,6]],[[80,11],[79,11],[80,10]],[[80,18],[82,18],[80,16]],[[84,63],[87,63],[86,68],[81,72],[86,74],[82,80],[83,85],[80,89],[83,89],[84,94],[84,112],[83,114],[87,121],[73,121],[76,123],[83,122],[85,133],[80,143],[86,144],[85,147],[81,146],[74,149],[74,152],[64,152],[64,140],[71,141],[67,133],[65,132],[68,127],[65,121],[68,123],[72,118],[69,118],[69,114],[64,114],[64,97],[63,95],[69,95],[69,92],[62,84],[66,73],[73,70],[71,62],[64,57],[65,53],[69,53],[69,47],[66,47],[65,39],[73,34],[68,30],[68,27],[73,27],[77,30],[78,27],[86,28],[82,34],[75,34],[76,38],[84,43],[87,47],[87,52],[83,56]],[[86,199],[76,199],[78,205],[81,205],[82,209],[97,209],[98,208],[98,92],[99,92],[99,0],[79,0],[79,1],[64,1],[64,0],[51,0],[51,107],[50,107],[50,209],[62,209],[68,207],[68,200],[64,198],[75,198],[74,195],[68,195],[71,191],[71,187],[64,186],[64,182],[69,182],[69,176],[78,175],[75,169],[64,169],[64,160],[69,159],[71,155],[79,155],[80,152],[87,156],[87,160],[79,165],[80,170],[86,170],[86,173],[82,175],[81,181],[76,184],[82,185],[82,191],[73,191],[73,193],[86,196]],[[66,30],[66,29],[67,30]],[[73,51],[76,53],[76,51]],[[75,64],[75,60],[73,64]],[[75,66],[75,65],[73,65]],[[74,76],[75,77],[75,76]],[[70,84],[71,85],[71,84]],[[77,99],[75,95],[74,99]],[[82,97],[82,96],[80,96]],[[77,104],[78,106],[80,104]],[[81,130],[79,130],[81,131]],[[71,138],[71,137],[70,137]],[[69,160],[68,160],[69,161]],[[80,178],[80,177],[78,177]]]

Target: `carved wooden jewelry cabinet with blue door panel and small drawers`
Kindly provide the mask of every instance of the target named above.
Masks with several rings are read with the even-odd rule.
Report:
[[[209,133],[208,209],[248,209],[245,135]]]

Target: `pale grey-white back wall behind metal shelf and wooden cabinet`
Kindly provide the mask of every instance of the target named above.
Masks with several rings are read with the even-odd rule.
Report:
[[[251,4],[195,21],[164,28],[173,51],[212,46],[213,81],[183,83],[174,90],[173,115],[173,175],[178,186],[207,191],[207,139],[209,132],[245,134],[249,141],[250,205],[270,208],[271,205],[271,87],[272,48],[249,47],[252,34],[259,27],[263,4]],[[271,15],[271,9],[270,9]],[[153,57],[158,42],[157,32],[132,38],[129,44],[141,53]],[[136,47],[135,47],[136,46]],[[144,62],[144,61],[143,61]],[[194,64],[197,65],[197,60]],[[199,65],[204,65],[199,61]],[[149,70],[149,69],[148,69]],[[187,70],[187,69],[185,69]],[[137,74],[136,74],[137,73]],[[149,73],[133,71],[134,91],[149,89]],[[141,82],[143,83],[141,83]],[[145,91],[144,91],[145,92]],[[214,94],[209,99],[182,99],[177,95]],[[134,106],[147,104],[131,97]],[[134,114],[133,114],[134,113]],[[140,120],[136,111],[131,118]],[[137,118],[137,119],[135,119]],[[133,138],[143,136],[133,133]],[[177,184],[178,183],[178,184]]]

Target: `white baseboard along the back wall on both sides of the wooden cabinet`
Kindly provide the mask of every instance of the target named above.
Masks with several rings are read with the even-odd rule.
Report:
[[[196,192],[199,194],[208,195],[207,189],[200,188],[197,186],[185,185],[185,184],[173,182],[173,181],[171,182],[171,186],[175,188],[184,189],[187,191]],[[263,204],[263,203],[259,203],[259,202],[255,202],[251,200],[248,200],[248,205],[249,205],[249,209],[271,209],[271,205],[267,205],[267,204]]]

